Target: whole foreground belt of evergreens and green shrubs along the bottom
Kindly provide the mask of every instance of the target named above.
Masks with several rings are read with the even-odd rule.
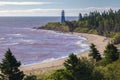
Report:
[[[0,63],[0,80],[120,80],[120,53],[108,44],[101,55],[94,44],[90,46],[89,59],[69,55],[64,68],[42,75],[25,75],[19,70],[20,62],[10,49]]]

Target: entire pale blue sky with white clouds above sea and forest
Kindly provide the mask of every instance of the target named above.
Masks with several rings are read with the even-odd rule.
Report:
[[[120,9],[120,0],[0,0],[0,16],[78,16]]]

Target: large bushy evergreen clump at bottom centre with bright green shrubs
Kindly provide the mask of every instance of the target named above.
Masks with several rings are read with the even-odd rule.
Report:
[[[56,70],[47,80],[104,80],[104,75],[86,58],[71,54],[64,62],[65,69]]]

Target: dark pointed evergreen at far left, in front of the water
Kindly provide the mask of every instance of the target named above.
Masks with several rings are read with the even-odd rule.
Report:
[[[0,70],[3,80],[22,80],[24,74],[19,70],[21,63],[12,55],[10,49],[6,51],[5,58],[0,63]]]

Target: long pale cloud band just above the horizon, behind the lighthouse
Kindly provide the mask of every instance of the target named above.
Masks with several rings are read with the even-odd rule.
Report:
[[[85,14],[92,11],[108,11],[109,9],[118,10],[114,7],[88,7],[80,9],[64,9],[66,16],[78,16],[79,13]],[[25,10],[0,10],[0,16],[60,16],[62,9],[25,9]]]

